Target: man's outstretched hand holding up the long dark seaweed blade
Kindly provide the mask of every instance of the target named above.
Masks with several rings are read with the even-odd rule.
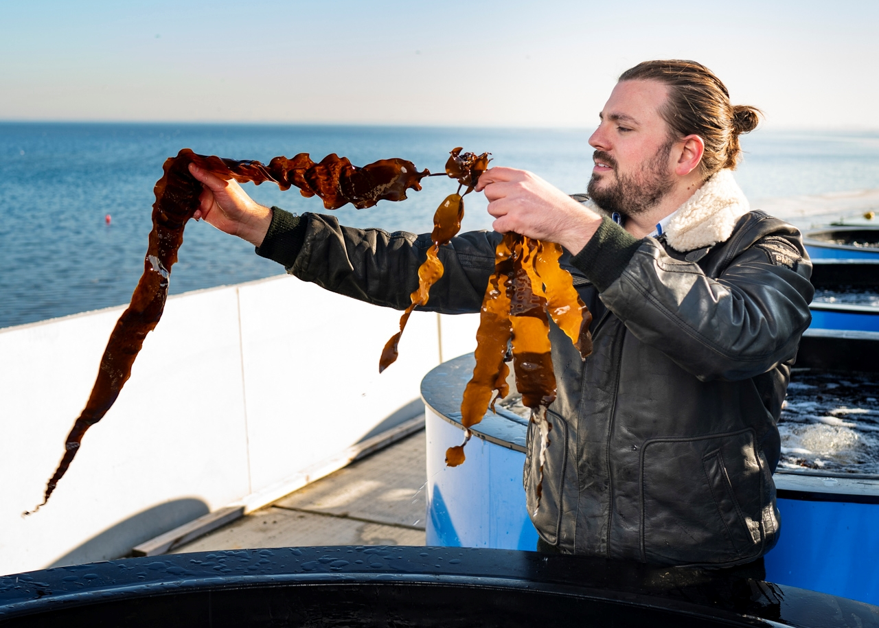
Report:
[[[272,210],[259,205],[235,179],[228,181],[202,170],[194,163],[189,171],[204,186],[195,210],[195,220],[204,219],[230,235],[237,235],[258,247],[272,224]]]

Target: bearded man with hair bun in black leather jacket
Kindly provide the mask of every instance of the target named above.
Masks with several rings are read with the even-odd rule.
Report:
[[[551,326],[558,391],[533,515],[541,548],[660,565],[750,562],[779,535],[775,422],[810,323],[810,263],[794,227],[750,211],[731,170],[758,112],[730,105],[704,66],[641,63],[599,118],[588,198],[523,170],[483,174],[476,189],[495,231],[462,234],[441,251],[446,274],[430,308],[479,310],[500,233],[562,244],[592,311],[593,352],[582,362]],[[258,206],[234,182],[193,175],[205,184],[197,218],[299,278],[409,304],[429,237],[294,217]],[[535,446],[530,429],[532,513]]]

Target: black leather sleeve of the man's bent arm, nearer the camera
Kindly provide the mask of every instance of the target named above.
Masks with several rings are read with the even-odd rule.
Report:
[[[730,246],[738,252],[717,278],[698,263],[673,258],[653,238],[633,245],[619,235],[606,237],[604,258],[628,262],[615,273],[599,271],[601,300],[638,340],[698,379],[747,379],[769,371],[795,357],[811,321],[814,291],[798,232],[780,220],[757,220],[777,222],[777,228],[761,229],[750,246]],[[788,257],[774,257],[773,250]]]

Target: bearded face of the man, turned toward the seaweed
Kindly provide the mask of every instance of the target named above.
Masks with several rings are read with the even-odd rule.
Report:
[[[607,212],[644,213],[674,184],[668,125],[659,113],[668,88],[657,81],[617,83],[589,138],[595,167],[589,196]]]

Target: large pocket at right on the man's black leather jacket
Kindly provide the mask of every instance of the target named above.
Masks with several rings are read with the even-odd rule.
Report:
[[[762,475],[752,429],[647,441],[641,459],[642,559],[720,566],[757,558],[767,499]]]

